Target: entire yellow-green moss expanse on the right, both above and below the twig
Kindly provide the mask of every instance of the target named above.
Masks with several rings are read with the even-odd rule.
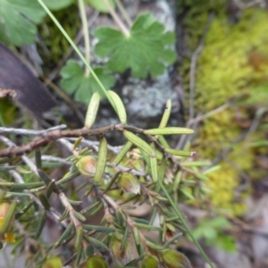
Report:
[[[245,11],[234,25],[230,24],[228,16],[220,14],[214,18],[197,63],[196,111],[208,113],[234,96],[250,96],[260,87],[267,88],[267,19],[268,13],[260,9]],[[192,32],[189,37],[193,36]],[[196,36],[200,36],[199,31]],[[187,69],[188,61],[181,70]],[[188,85],[188,76],[185,81]],[[232,214],[241,214],[245,209],[245,194],[240,195],[239,200],[234,195],[239,186],[240,173],[246,172],[253,179],[262,174],[253,172],[257,151],[248,144],[264,134],[255,132],[246,141],[234,143],[242,131],[239,118],[252,121],[254,114],[250,110],[245,105],[236,105],[203,121],[194,144],[199,155],[208,159],[219,156],[224,149],[231,149],[221,163],[221,169],[209,175],[207,185],[212,188],[212,204],[230,210]]]

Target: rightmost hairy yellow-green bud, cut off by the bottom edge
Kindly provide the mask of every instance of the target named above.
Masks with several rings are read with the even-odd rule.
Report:
[[[166,249],[161,253],[163,264],[167,268],[191,268],[188,258],[178,251]]]

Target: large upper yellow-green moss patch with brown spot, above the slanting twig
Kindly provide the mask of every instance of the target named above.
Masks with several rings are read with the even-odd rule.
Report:
[[[233,26],[226,18],[214,19],[198,59],[197,107],[212,110],[268,82],[267,19],[263,10],[247,11]],[[212,95],[202,97],[204,90]]]

